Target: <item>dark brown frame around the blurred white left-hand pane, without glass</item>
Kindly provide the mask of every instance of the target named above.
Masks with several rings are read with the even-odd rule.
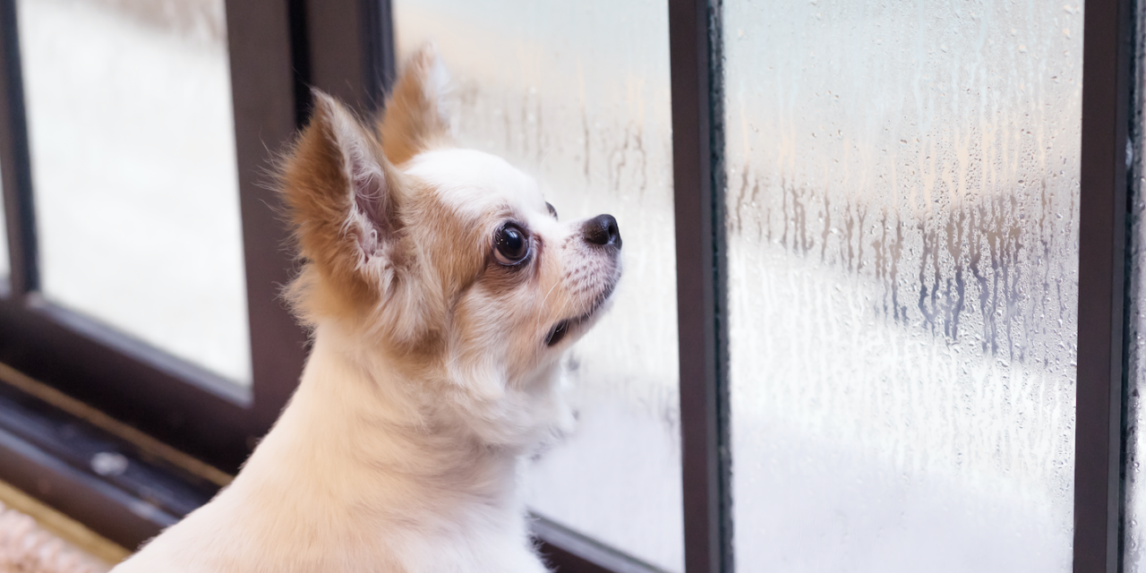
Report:
[[[320,2],[315,2],[319,5]],[[297,70],[307,54],[295,5],[226,3],[238,202],[245,260],[250,391],[182,359],[53,305],[37,291],[36,207],[15,0],[0,2],[0,173],[11,260],[0,300],[0,360],[149,434],[235,471],[277,417],[304,360],[306,336],[278,299],[293,261],[266,185],[269,149],[295,134],[301,116]]]

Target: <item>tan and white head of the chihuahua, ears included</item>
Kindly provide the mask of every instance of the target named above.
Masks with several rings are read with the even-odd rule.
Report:
[[[526,386],[609,301],[621,237],[610,215],[559,220],[532,178],[456,148],[444,88],[430,48],[375,128],[315,94],[283,175],[305,261],[290,298],[430,376]]]

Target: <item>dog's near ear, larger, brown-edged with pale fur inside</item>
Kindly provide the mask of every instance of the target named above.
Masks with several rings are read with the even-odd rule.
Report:
[[[315,91],[311,123],[285,165],[283,193],[303,257],[321,275],[323,290],[337,289],[317,298],[372,305],[385,295],[398,270],[400,186],[358,119]]]

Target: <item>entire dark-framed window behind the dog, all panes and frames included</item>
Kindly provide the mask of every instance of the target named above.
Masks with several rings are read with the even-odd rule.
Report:
[[[581,427],[531,464],[560,571],[1137,571],[1146,11],[1129,0],[172,6],[0,2],[0,479],[127,544],[226,482],[305,355],[276,298],[292,261],[272,154],[309,86],[367,113],[435,40],[462,142],[539,175],[563,215],[625,229],[615,307],[565,364]],[[37,28],[79,13],[108,46],[163,46],[131,57],[186,65],[166,87],[53,93],[148,65],[99,38],[77,50],[99,26]],[[127,97],[152,88],[156,118],[219,142],[193,146],[211,170],[118,168],[182,170],[129,144],[58,167],[97,157],[85,105],[144,118]],[[174,103],[191,89],[213,95]],[[171,241],[156,252],[104,243],[100,221],[139,201],[111,198],[127,183],[173,202],[146,217]],[[220,280],[165,288],[172,251],[210,252]],[[117,265],[170,277],[101,278]],[[29,430],[64,426],[94,438]],[[95,445],[140,469],[93,473]],[[125,509],[141,500],[156,511]]]

